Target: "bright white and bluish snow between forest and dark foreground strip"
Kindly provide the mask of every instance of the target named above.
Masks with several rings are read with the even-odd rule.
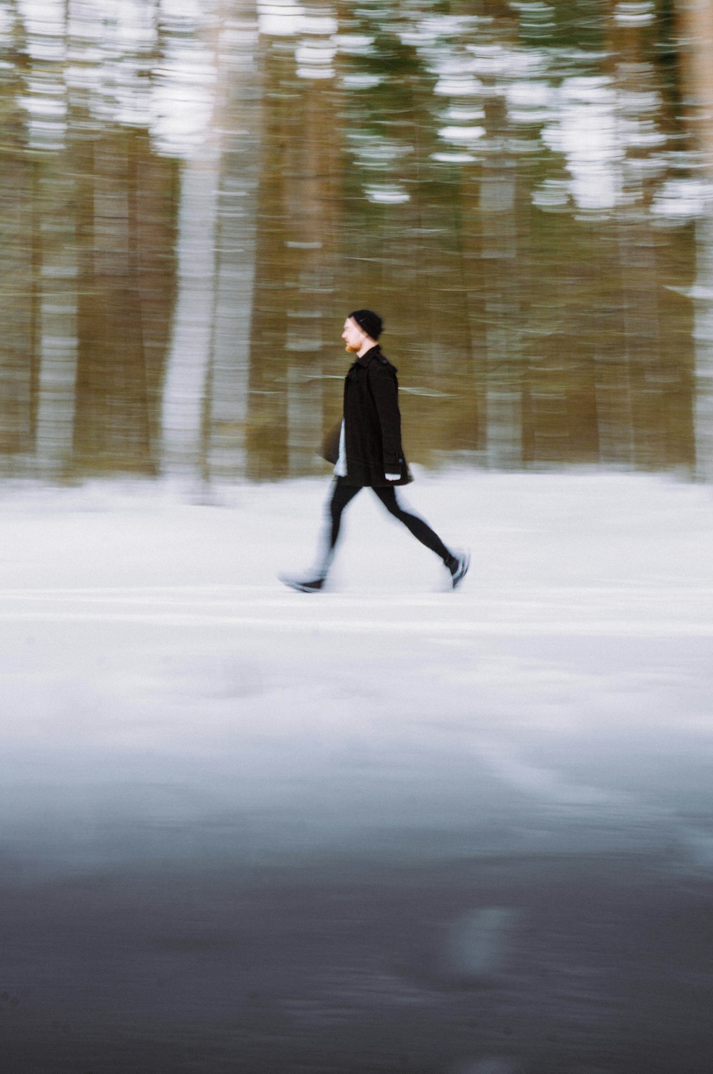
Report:
[[[472,551],[456,593],[368,492],[330,592],[281,585],[328,478],[203,504],[5,485],[5,844],[76,862],[227,817],[289,846],[491,823],[506,848],[653,841],[709,868],[710,488],[417,476],[404,498]]]

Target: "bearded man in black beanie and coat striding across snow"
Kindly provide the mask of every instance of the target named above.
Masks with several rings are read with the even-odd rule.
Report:
[[[339,537],[341,512],[362,489],[373,489],[387,510],[442,560],[453,589],[468,569],[468,555],[453,554],[431,526],[405,511],[396,497],[394,487],[408,484],[412,478],[402,449],[396,369],[377,343],[381,330],[381,318],[370,309],[355,309],[344,323],[341,338],[356,359],[345,379],[338,448],[335,444],[335,450],[326,454],[335,463],[326,550],[312,578],[281,579],[303,593],[318,593],[324,585]]]

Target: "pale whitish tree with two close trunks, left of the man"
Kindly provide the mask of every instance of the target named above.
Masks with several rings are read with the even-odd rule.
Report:
[[[256,13],[251,0],[237,12],[233,6],[221,6],[210,31],[212,115],[180,176],[178,293],[163,388],[162,463],[166,473],[192,478],[204,478],[209,460],[224,451],[234,460],[236,441],[227,430],[238,427],[245,396],[256,214],[249,169],[247,182],[239,169],[258,136],[250,103]],[[231,106],[243,93],[247,104],[241,100],[236,113],[243,122],[233,128]]]

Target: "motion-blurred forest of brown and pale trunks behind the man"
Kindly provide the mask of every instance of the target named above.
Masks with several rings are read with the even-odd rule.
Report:
[[[0,473],[713,476],[713,0],[0,0]]]

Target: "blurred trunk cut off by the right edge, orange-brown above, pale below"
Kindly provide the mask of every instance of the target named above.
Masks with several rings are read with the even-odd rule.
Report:
[[[696,473],[713,479],[713,0],[680,0],[681,63],[688,116],[705,175],[705,211],[696,221]]]

